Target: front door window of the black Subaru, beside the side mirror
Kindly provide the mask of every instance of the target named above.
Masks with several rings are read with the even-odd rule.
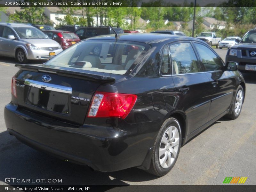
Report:
[[[195,46],[199,56],[202,59],[205,71],[221,70],[223,63],[210,48],[198,43],[195,43]]]

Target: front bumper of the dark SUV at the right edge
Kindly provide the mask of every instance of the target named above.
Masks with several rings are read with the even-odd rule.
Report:
[[[250,71],[245,70],[245,65],[256,65],[256,58],[255,59],[247,59],[247,58],[239,58],[232,55],[226,56],[226,62],[228,61],[234,61],[238,63],[238,70],[243,72],[256,72],[256,71]]]

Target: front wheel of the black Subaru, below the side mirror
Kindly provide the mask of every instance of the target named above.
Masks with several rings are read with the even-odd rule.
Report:
[[[231,108],[232,113],[226,116],[230,119],[236,119],[241,113],[243,102],[244,102],[244,89],[241,85],[239,85],[236,90],[236,96],[233,100],[233,105]]]

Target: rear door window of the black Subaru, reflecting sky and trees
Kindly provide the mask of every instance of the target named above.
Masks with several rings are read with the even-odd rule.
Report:
[[[172,74],[186,74],[200,72],[196,54],[190,43],[170,45],[172,57]]]

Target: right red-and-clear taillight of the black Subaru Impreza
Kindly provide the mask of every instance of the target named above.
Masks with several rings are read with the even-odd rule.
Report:
[[[132,110],[137,95],[95,92],[88,117],[118,117],[124,119]]]

